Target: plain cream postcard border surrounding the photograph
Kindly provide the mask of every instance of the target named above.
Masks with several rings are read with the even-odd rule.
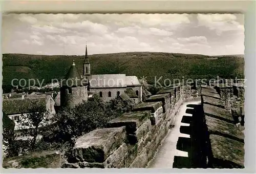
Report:
[[[255,173],[256,30],[254,1],[2,1],[2,13],[244,13],[245,14],[245,168],[244,169],[3,169],[2,173]],[[1,22],[2,22],[2,15]],[[1,25],[2,26],[2,25]],[[1,52],[1,48],[0,48]],[[2,54],[0,60],[2,86]],[[2,93],[2,88],[1,88]],[[0,98],[2,103],[2,97]],[[2,104],[0,104],[2,110]],[[2,125],[2,112],[1,125]],[[2,126],[1,126],[2,130]],[[2,131],[1,131],[2,132]],[[2,139],[2,134],[1,134]],[[1,141],[2,146],[2,141]]]

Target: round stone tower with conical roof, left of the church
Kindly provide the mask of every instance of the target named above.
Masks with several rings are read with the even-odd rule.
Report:
[[[75,61],[73,60],[65,80],[60,86],[60,106],[74,107],[83,100],[87,101],[87,87],[88,83],[78,74]]]

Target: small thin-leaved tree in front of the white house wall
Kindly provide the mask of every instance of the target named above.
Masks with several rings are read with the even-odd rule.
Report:
[[[29,107],[26,113],[22,114],[21,119],[17,121],[20,136],[28,137],[28,140],[31,140],[32,150],[35,149],[38,136],[42,135],[43,127],[48,125],[48,119],[49,112],[46,110],[46,106],[36,103]]]

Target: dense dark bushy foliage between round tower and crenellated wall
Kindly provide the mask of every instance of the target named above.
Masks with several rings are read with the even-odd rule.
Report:
[[[74,108],[62,109],[44,137],[47,141],[72,144],[77,137],[105,127],[110,120],[131,111],[132,107],[132,101],[115,98],[103,102],[98,95],[94,95]]]

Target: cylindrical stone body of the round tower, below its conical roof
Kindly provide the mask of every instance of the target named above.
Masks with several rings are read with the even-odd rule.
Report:
[[[60,88],[60,105],[62,107],[74,107],[83,100],[88,99],[87,86],[77,86],[70,89],[72,91],[71,94],[69,94],[68,88],[65,88],[65,86]]]

